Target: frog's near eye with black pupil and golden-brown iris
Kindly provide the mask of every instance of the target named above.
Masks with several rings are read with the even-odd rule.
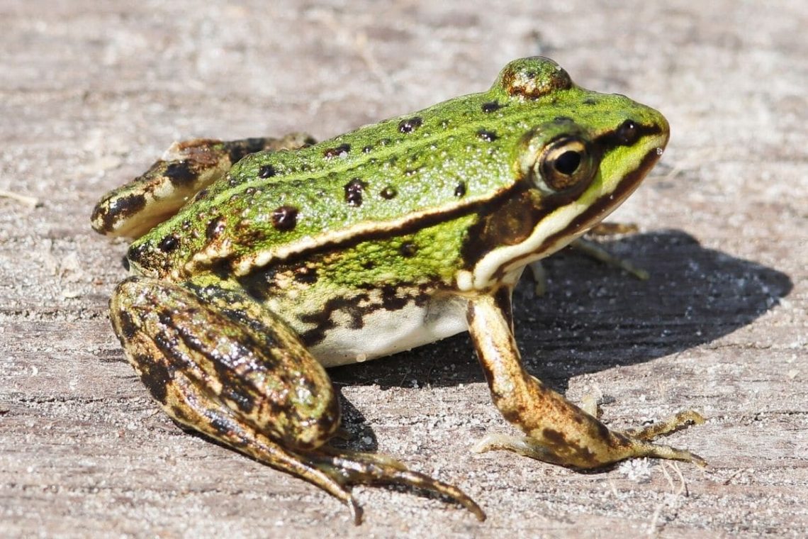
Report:
[[[583,187],[596,171],[591,149],[580,137],[563,137],[550,142],[533,166],[537,187],[548,194]]]

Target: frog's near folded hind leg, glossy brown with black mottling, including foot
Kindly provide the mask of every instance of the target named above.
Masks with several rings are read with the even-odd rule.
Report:
[[[339,402],[322,365],[280,319],[235,285],[124,280],[110,312],[126,356],[170,417],[264,464],[314,483],[351,508],[357,483],[434,491],[485,516],[456,486],[390,457],[331,448]]]

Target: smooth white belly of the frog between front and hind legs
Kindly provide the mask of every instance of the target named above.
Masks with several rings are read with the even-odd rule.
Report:
[[[402,309],[379,309],[364,314],[362,327],[335,327],[309,349],[326,367],[372,360],[468,330],[466,301],[447,297]]]

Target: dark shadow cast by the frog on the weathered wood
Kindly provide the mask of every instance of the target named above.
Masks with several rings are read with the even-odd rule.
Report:
[[[680,230],[604,242],[608,251],[650,272],[640,281],[574,253],[545,262],[547,293],[536,297],[523,278],[514,293],[516,341],[528,371],[566,392],[571,377],[639,364],[709,343],[778,305],[793,284],[771,267],[699,245]],[[449,359],[447,359],[449,358]],[[337,387],[452,386],[484,382],[469,336],[364,364],[330,369]],[[349,431],[376,439],[364,417],[342,398]],[[493,405],[492,405],[493,406]]]

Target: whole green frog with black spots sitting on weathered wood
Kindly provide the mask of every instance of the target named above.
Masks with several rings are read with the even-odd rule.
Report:
[[[634,457],[705,465],[655,441],[684,411],[616,430],[528,373],[511,296],[525,267],[600,225],[641,183],[670,128],[589,91],[556,62],[509,62],[487,91],[315,141],[305,133],[175,143],[107,193],[93,228],[133,238],[110,299],[128,362],[180,426],[302,478],[362,518],[360,484],[482,507],[386,455],[340,447],[326,368],[467,331],[502,449],[590,470]]]

